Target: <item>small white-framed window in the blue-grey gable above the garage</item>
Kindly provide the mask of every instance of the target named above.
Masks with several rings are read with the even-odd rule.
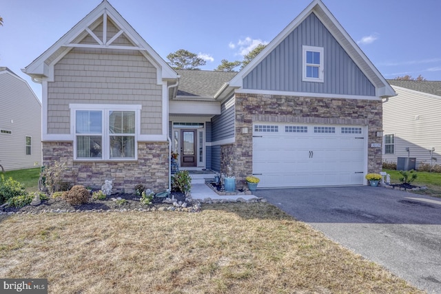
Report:
[[[302,46],[302,81],[323,83],[324,52],[325,49],[322,47]]]

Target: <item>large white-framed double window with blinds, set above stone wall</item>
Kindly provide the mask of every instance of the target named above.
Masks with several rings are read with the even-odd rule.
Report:
[[[75,160],[136,160],[141,105],[70,105]]]

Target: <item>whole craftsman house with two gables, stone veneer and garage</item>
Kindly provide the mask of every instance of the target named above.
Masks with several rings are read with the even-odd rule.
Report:
[[[172,70],[107,0],[23,71],[43,85],[43,162],[119,191],[170,187],[171,151],[238,187],[364,185],[395,95],[320,0],[238,73]]]

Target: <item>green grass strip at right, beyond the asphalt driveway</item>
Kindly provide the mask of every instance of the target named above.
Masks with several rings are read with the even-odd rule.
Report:
[[[391,175],[392,184],[400,184],[400,171],[395,169],[383,169],[387,174]],[[418,193],[439,197],[441,198],[441,174],[440,173],[429,173],[428,171],[415,171],[418,175],[412,185],[416,186],[427,186],[427,190],[419,191]]]

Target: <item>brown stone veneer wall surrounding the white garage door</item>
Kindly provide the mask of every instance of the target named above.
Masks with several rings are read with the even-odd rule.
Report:
[[[221,149],[221,171],[234,162],[236,185],[245,185],[245,177],[252,174],[253,123],[316,123],[368,126],[368,172],[382,169],[382,143],[376,132],[382,130],[382,101],[344,98],[311,98],[267,94],[236,94],[236,142]],[[248,127],[248,134],[242,134]]]

